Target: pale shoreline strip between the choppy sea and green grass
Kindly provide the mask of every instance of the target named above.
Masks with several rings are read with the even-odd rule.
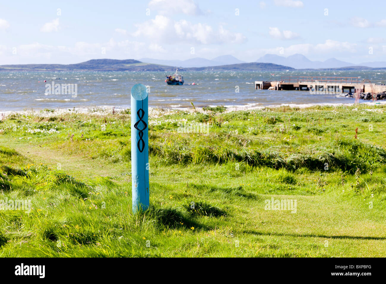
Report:
[[[354,106],[354,105],[384,105],[386,104],[385,100],[382,101],[375,101],[375,102],[361,102],[359,104],[354,103],[320,103],[320,104],[279,104],[279,105],[230,105],[225,106],[226,109],[223,113],[227,112],[233,112],[233,111],[248,111],[248,110],[258,110],[258,109],[265,109],[265,108],[279,108],[279,107],[290,107],[290,108],[300,108],[305,109],[308,107],[315,107],[315,106],[330,106],[330,107],[339,107],[339,106]],[[216,105],[210,105],[211,107],[215,107]],[[51,117],[55,115],[61,115],[61,114],[68,114],[71,112],[76,112],[80,114],[92,114],[92,115],[107,115],[107,114],[113,114],[113,109],[115,113],[120,113],[125,111],[128,108],[119,108],[119,107],[112,107],[112,106],[90,106],[90,107],[80,107],[80,108],[56,108],[52,109],[50,111],[45,111],[46,109],[24,109],[22,111],[0,111],[1,119],[10,116],[12,114],[24,114],[24,115],[35,115],[35,116],[44,116],[44,117]],[[168,112],[173,111],[186,111],[186,112],[207,112],[203,110],[203,107],[176,107],[176,108],[162,108],[162,107],[149,107],[149,114],[166,114]]]

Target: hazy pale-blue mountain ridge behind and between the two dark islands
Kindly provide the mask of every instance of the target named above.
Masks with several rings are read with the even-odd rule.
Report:
[[[187,60],[166,60],[166,59],[154,59],[154,58],[141,58],[140,61],[152,64],[161,64],[169,66],[181,66],[184,68],[190,67],[204,67],[204,66],[219,66],[229,65],[237,63],[245,63],[245,61],[238,60],[232,55],[222,55],[213,58],[212,60],[195,57]]]

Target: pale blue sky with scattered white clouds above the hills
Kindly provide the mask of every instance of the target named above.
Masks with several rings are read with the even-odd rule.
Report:
[[[37,3],[39,2],[39,3]],[[1,1],[0,65],[98,58],[386,61],[383,1]]]

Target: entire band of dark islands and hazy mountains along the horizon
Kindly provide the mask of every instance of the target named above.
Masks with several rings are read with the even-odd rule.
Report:
[[[0,71],[277,71],[295,69],[319,70],[371,70],[386,69],[386,62],[367,62],[355,65],[349,62],[330,58],[326,61],[311,61],[302,54],[288,57],[266,54],[256,62],[246,63],[234,56],[224,55],[208,60],[191,58],[188,60],[134,59],[93,59],[76,64],[25,64],[1,65]]]

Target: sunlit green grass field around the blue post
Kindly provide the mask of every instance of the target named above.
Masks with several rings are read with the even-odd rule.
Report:
[[[151,206],[137,215],[129,110],[8,116],[0,201],[31,209],[0,210],[0,256],[384,257],[385,112],[153,110]],[[183,121],[208,135],[179,133]],[[265,210],[271,198],[296,213]]]

